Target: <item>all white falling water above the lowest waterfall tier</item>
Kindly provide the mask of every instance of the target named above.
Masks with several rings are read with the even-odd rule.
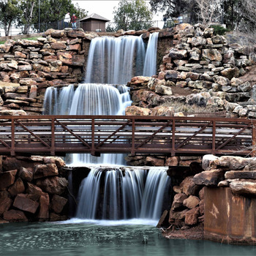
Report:
[[[97,37],[91,40],[85,82],[45,91],[45,115],[124,115],[131,104],[124,86],[135,75],[156,73],[158,33],[150,35],[147,50],[142,37]],[[145,58],[146,56],[146,58]],[[144,72],[143,72],[144,67]],[[118,86],[116,86],[118,84]],[[72,154],[69,165],[125,165],[124,154]]]

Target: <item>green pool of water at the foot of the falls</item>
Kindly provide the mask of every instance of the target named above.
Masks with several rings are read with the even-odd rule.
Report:
[[[154,223],[139,222],[1,224],[0,255],[256,255],[255,246],[166,239]]]

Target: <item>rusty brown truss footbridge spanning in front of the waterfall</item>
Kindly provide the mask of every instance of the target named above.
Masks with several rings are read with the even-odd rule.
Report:
[[[0,154],[253,154],[255,120],[173,116],[1,116]]]

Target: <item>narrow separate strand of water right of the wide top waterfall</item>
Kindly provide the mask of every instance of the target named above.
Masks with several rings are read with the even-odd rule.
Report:
[[[157,41],[158,32],[150,34],[148,39],[148,47],[146,50],[146,58],[143,68],[143,76],[151,77],[157,74]]]

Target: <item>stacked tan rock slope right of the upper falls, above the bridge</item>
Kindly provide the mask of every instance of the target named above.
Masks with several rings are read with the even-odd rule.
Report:
[[[214,35],[214,29],[200,25],[183,24],[172,33],[174,46],[163,56],[158,75],[135,77],[128,83],[132,105],[150,109],[151,116],[175,116],[180,112],[177,106],[184,105],[184,113],[208,108],[209,113],[255,118],[254,84],[239,79],[254,63],[254,48],[228,45],[225,37]],[[160,105],[169,109],[154,110]]]

